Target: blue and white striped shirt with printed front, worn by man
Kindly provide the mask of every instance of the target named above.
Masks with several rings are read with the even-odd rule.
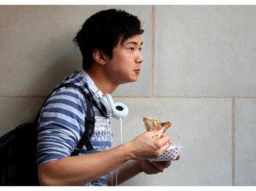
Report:
[[[72,83],[81,86],[85,92],[85,71],[75,71],[66,77],[62,83]],[[89,92],[88,92],[89,94]],[[95,100],[96,98],[91,98]],[[96,101],[94,107],[95,128],[91,137],[94,152],[111,148],[113,137],[111,119],[104,116]],[[76,143],[85,131],[86,102],[83,94],[76,88],[64,87],[53,92],[42,107],[38,126],[38,167],[51,160],[68,157]],[[83,147],[81,154],[87,154]],[[86,172],[85,172],[86,173]],[[92,181],[87,186],[106,186],[107,175]]]

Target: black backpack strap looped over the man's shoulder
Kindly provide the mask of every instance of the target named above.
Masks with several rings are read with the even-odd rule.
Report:
[[[94,133],[94,124],[95,124],[94,108],[92,107],[91,101],[89,100],[87,94],[85,94],[85,91],[83,90],[83,88],[76,86],[75,84],[70,84],[70,83],[60,84],[59,86],[54,88],[51,91],[51,93],[48,94],[48,97],[44,101],[44,103],[46,103],[48,98],[51,97],[51,94],[53,92],[55,92],[55,90],[57,90],[59,88],[63,88],[63,87],[72,87],[72,88],[79,89],[83,93],[83,97],[85,97],[85,101],[86,101],[87,114],[85,115],[85,131],[84,131],[81,139],[79,140],[79,142],[76,144],[74,151],[70,155],[70,156],[77,156],[79,154],[79,152],[81,152],[81,150],[83,149],[83,145],[85,145],[85,147],[87,148],[88,151],[94,150],[94,147],[91,145],[91,141],[90,141],[91,136]],[[42,104],[42,107],[43,107],[44,103]],[[41,107],[41,109],[42,109],[42,107]],[[40,111],[41,111],[41,109],[40,109]],[[35,117],[34,123],[38,123],[38,120],[40,117],[40,111],[38,112],[38,115]]]

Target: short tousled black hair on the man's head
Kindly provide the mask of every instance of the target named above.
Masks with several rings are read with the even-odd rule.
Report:
[[[73,41],[83,56],[83,69],[94,63],[93,50],[98,48],[113,58],[113,48],[119,40],[125,41],[134,35],[141,35],[141,21],[124,10],[103,10],[90,16],[76,34]]]

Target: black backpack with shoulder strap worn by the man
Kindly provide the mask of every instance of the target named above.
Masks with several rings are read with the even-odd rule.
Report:
[[[93,150],[89,139],[94,133],[94,109],[87,95],[82,88],[74,84],[61,84],[55,88],[51,94],[62,87],[78,88],[84,95],[87,105],[87,115],[85,116],[85,132],[77,143],[71,156],[76,156],[82,150],[83,145],[87,150]],[[47,97],[47,99],[48,99]],[[46,99],[46,100],[47,100]],[[45,103],[46,101],[44,101]],[[43,104],[44,105],[44,104]],[[42,107],[41,107],[42,109]],[[41,110],[40,109],[40,110]],[[12,131],[0,137],[0,185],[1,186],[39,186],[38,167],[36,162],[38,143],[38,118],[40,111],[34,122],[20,124]]]

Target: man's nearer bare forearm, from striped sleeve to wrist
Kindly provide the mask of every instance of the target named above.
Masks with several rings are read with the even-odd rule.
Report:
[[[83,185],[131,159],[126,144],[111,150],[46,162],[38,169],[42,185]]]

